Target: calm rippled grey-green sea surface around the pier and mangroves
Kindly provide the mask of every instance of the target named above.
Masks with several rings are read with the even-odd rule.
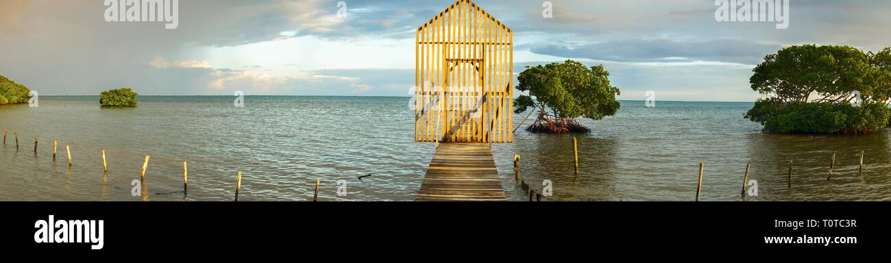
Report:
[[[0,201],[229,201],[238,171],[240,201],[311,200],[316,179],[326,201],[411,201],[435,150],[435,144],[413,143],[408,98],[248,96],[244,108],[235,108],[233,100],[141,96],[134,109],[101,109],[98,96],[41,96],[37,108],[0,107],[0,128],[9,129],[0,149]],[[706,163],[703,201],[740,201],[747,162],[758,195],[746,201],[891,200],[887,130],[871,136],[767,135],[742,118],[751,105],[658,102],[646,108],[622,102],[617,116],[582,121],[593,132],[576,135],[577,176],[572,136],[520,128],[513,144],[495,144],[495,161],[505,190],[518,201],[526,197],[514,180],[514,154],[521,156],[521,176],[536,191],[543,180],[552,181],[550,200],[692,201],[699,162]],[[526,114],[514,117],[519,125]],[[827,181],[833,152],[837,162]],[[151,160],[143,191],[133,196],[131,181],[139,178],[145,154]],[[188,195],[182,192],[183,161]],[[367,174],[372,177],[357,179]],[[347,196],[336,194],[340,180]]]

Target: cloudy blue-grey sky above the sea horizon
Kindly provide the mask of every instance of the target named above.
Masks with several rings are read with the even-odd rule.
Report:
[[[514,30],[517,74],[603,64],[623,100],[750,102],[751,70],[783,46],[891,46],[891,1],[787,1],[787,29],[717,21],[714,0],[552,0],[550,18],[545,1],[473,2]],[[39,95],[410,95],[414,32],[454,1],[339,2],[179,0],[165,29],[106,21],[105,0],[0,0],[0,75]]]

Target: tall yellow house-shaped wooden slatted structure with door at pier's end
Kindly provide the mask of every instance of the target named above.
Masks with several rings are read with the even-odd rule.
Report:
[[[513,31],[459,0],[415,33],[414,140],[513,142]]]

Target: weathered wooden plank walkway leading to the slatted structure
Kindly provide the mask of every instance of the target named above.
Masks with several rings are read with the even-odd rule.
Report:
[[[489,144],[443,143],[416,201],[507,201]]]

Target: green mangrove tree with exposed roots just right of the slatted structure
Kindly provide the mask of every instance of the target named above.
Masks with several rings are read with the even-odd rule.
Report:
[[[517,89],[529,95],[514,100],[514,112],[538,110],[538,118],[526,128],[530,132],[589,132],[575,119],[603,119],[619,108],[619,89],[609,85],[609,71],[603,65],[588,68],[571,60],[553,62],[527,67],[518,79]]]

